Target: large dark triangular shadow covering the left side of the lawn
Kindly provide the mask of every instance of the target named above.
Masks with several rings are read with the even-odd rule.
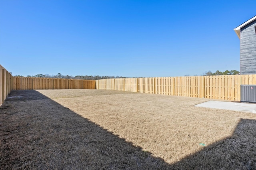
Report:
[[[35,90],[13,90],[0,115],[0,169],[169,167]]]

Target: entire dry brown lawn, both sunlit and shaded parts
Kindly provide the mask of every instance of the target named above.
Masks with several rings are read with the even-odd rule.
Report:
[[[0,168],[256,168],[256,114],[194,107],[200,98],[37,91],[13,91],[24,97],[0,109]]]

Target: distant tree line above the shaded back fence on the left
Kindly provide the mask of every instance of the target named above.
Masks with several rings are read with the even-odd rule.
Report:
[[[19,77],[24,77],[21,75],[15,75]],[[45,78],[67,78],[67,79],[82,79],[82,80],[100,80],[100,79],[106,79],[106,78],[126,78],[122,76],[69,76],[69,75],[62,75],[58,73],[57,75],[49,75],[49,74],[36,74],[34,76],[27,75],[27,77],[45,77]]]

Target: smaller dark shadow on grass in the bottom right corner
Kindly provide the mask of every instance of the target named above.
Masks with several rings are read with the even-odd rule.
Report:
[[[183,158],[171,169],[256,169],[256,120],[240,119],[231,137]]]

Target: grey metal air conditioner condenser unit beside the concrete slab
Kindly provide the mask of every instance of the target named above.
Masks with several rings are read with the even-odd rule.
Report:
[[[241,102],[256,102],[256,85],[241,85]]]

